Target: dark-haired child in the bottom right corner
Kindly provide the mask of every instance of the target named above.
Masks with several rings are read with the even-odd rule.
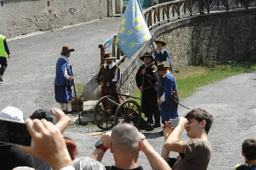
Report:
[[[246,139],[242,144],[242,155],[244,157],[244,164],[237,164],[234,170],[242,169],[256,169],[256,139]]]

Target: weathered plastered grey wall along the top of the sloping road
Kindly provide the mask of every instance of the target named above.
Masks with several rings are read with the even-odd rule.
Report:
[[[5,0],[0,34],[7,38],[107,16],[107,0]]]

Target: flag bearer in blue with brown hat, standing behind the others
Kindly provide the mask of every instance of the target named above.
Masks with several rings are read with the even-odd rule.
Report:
[[[155,43],[156,43],[156,48],[152,48],[152,51],[151,51],[151,55],[153,56],[153,58],[155,58],[155,60],[156,60],[155,51],[157,54],[158,60],[155,62],[155,64],[157,65],[159,63],[164,63],[164,65],[170,66],[169,70],[172,71],[171,57],[168,51],[163,48],[164,46],[166,46],[166,42],[159,39],[159,40],[156,40]]]

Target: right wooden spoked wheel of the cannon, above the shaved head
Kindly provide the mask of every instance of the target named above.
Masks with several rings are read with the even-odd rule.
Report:
[[[116,109],[115,125],[118,123],[131,123],[137,128],[141,119],[140,105],[133,100],[126,100]]]

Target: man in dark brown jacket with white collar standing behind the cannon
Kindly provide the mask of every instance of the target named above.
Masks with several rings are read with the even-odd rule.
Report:
[[[117,102],[121,104],[120,95],[115,92],[119,92],[120,83],[120,69],[118,65],[112,60],[111,53],[106,53],[103,58],[105,59],[105,64],[101,65],[100,71],[96,78],[96,81],[101,85],[101,97],[113,96],[116,98]]]

